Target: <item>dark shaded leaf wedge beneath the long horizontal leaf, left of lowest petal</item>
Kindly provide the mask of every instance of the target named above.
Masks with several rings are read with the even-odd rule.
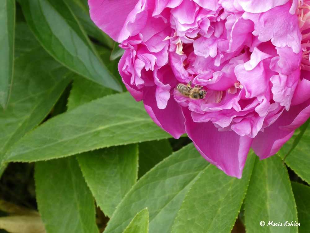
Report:
[[[139,172],[140,179],[147,171],[172,153],[167,139],[139,143]]]

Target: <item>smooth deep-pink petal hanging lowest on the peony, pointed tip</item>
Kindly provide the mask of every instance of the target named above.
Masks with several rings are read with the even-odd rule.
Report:
[[[234,131],[219,132],[210,121],[193,122],[190,111],[184,107],[182,110],[188,137],[201,155],[227,175],[241,178],[253,139],[241,137]]]

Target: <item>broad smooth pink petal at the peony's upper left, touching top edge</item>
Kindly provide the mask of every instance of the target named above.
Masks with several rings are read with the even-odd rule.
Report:
[[[135,8],[137,2],[138,0],[88,0],[91,20],[117,41],[128,14]]]

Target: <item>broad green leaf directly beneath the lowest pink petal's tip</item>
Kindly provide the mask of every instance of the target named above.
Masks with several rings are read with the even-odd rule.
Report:
[[[228,176],[215,166],[203,171],[184,199],[173,233],[232,231],[254,166],[255,155],[249,155],[241,179]]]

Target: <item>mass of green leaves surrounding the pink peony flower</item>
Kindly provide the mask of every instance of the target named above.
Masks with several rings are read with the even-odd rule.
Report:
[[[48,233],[310,232],[309,121],[227,176],[126,92],[123,51],[88,11],[86,0],[0,0],[2,200],[38,209]]]

